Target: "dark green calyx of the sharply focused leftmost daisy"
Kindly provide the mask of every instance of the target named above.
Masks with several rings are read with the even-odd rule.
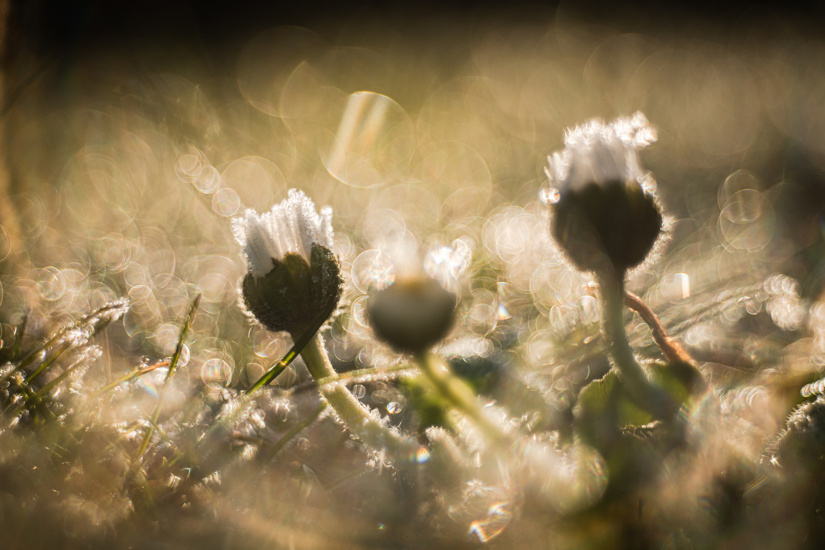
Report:
[[[341,266],[327,247],[314,242],[309,264],[289,252],[262,277],[243,278],[243,302],[267,329],[288,331],[294,339],[320,327],[341,299]]]

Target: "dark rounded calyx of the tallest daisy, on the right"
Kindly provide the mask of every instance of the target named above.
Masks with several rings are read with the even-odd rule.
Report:
[[[550,226],[578,269],[621,273],[648,256],[662,230],[662,214],[635,181],[594,182],[562,190]]]

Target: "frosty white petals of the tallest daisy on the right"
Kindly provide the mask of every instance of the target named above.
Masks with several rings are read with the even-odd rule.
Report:
[[[544,173],[550,185],[571,190],[593,182],[639,181],[643,172],[636,150],[654,141],[656,130],[639,111],[610,124],[588,120],[565,131],[565,147],[561,153],[547,157]]]

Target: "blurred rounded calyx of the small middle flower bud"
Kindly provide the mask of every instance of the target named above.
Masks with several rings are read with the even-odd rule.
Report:
[[[367,306],[375,336],[412,353],[426,351],[447,336],[454,312],[455,294],[425,278],[398,280],[375,293]]]

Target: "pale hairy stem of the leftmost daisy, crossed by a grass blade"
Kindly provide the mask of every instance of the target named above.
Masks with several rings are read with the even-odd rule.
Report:
[[[301,351],[304,364],[316,380],[336,376],[335,369],[329,362],[327,350],[323,347],[323,337],[316,334]],[[353,435],[370,445],[373,449],[387,449],[396,457],[406,456],[415,452],[418,445],[407,438],[398,435],[384,425],[380,419],[370,415],[370,412],[359,402],[343,383],[324,385],[321,395],[337,413]]]

